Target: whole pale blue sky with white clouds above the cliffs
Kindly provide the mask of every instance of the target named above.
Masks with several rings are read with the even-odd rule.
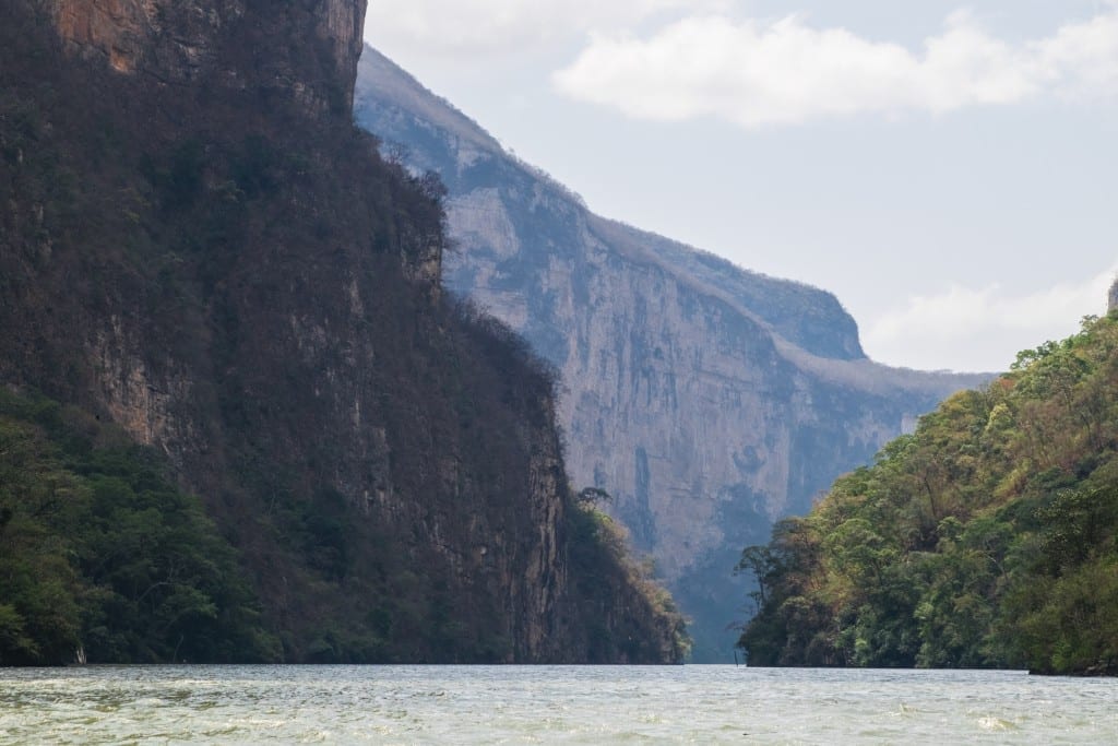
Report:
[[[1118,274],[1118,0],[370,0],[366,39],[606,217],[1006,369]]]

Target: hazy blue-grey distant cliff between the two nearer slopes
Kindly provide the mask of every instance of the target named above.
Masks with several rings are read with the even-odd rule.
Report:
[[[443,177],[448,287],[559,368],[574,481],[614,495],[693,617],[697,660],[731,657],[743,546],[984,378],[877,365],[832,294],[594,215],[370,49],[357,115]]]

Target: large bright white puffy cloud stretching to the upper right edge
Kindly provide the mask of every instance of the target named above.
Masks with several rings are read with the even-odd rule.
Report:
[[[800,16],[698,16],[647,38],[594,35],[552,83],[637,119],[718,117],[746,128],[1110,95],[1118,91],[1118,10],[1021,43],[992,36],[959,11],[919,54],[843,28],[813,28]]]

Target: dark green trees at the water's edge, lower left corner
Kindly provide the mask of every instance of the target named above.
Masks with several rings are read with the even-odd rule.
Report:
[[[0,389],[0,663],[266,661],[236,555],[160,461]]]

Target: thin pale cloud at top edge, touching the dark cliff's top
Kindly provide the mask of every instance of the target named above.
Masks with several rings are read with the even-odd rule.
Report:
[[[595,28],[628,27],[671,10],[709,11],[728,0],[378,0],[366,38],[378,47],[473,58],[522,54],[576,39]]]

